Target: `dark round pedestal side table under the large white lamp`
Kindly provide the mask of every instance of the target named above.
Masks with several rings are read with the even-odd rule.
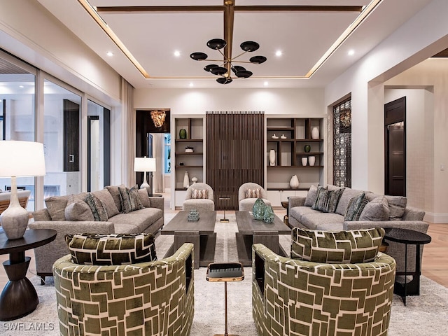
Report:
[[[36,309],[39,300],[27,278],[31,258],[25,257],[25,251],[50,243],[56,234],[56,230],[26,230],[22,238],[13,240],[0,234],[0,254],[9,253],[9,260],[3,262],[9,281],[0,295],[0,321],[15,320]]]

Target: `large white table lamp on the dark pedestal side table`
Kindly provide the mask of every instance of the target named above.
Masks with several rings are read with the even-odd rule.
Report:
[[[43,144],[31,141],[0,141],[0,177],[11,178],[9,207],[0,214],[1,226],[8,239],[22,238],[27,230],[29,213],[20,206],[17,177],[45,175]]]

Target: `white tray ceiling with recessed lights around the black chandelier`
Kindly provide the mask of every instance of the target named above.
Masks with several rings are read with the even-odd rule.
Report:
[[[263,55],[267,61],[242,64],[253,76],[222,85],[216,82],[218,76],[204,71],[209,62],[195,61],[190,54],[205,52],[209,59],[223,59],[218,50],[207,47],[207,41],[229,36],[224,32],[225,22],[229,22],[223,9],[227,0],[38,1],[136,88],[186,88],[192,84],[251,88],[265,87],[266,83],[269,87],[324,87],[430,2],[233,0],[232,56],[242,52],[242,42],[256,41],[260,48],[238,60]],[[82,3],[97,11],[91,8],[93,14],[88,13]],[[364,6],[373,9],[356,25],[366,13],[360,11]],[[112,11],[106,11],[109,8]],[[117,37],[121,50],[95,16],[106,22],[109,35]],[[174,55],[176,50],[179,57]],[[275,55],[277,50],[282,52],[279,57]],[[106,55],[109,51],[113,56]],[[132,57],[137,66],[130,61]]]

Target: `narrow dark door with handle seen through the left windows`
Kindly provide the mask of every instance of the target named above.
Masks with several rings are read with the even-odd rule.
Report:
[[[64,99],[64,172],[79,172],[79,105]]]

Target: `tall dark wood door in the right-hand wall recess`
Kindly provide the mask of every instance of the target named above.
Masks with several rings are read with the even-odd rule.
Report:
[[[406,97],[384,105],[386,195],[406,196]]]

